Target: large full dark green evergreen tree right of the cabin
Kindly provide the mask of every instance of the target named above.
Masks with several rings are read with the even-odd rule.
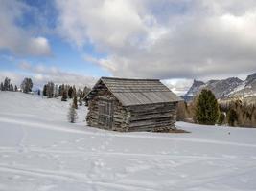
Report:
[[[196,120],[199,124],[214,125],[219,117],[217,99],[210,90],[203,89],[196,103]]]

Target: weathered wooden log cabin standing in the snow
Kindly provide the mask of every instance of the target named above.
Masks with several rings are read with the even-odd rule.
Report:
[[[89,126],[127,132],[174,129],[181,99],[159,79],[102,77],[85,100]]]

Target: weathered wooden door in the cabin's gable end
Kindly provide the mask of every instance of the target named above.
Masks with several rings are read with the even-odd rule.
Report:
[[[104,129],[112,129],[113,123],[113,101],[99,100],[99,125]]]

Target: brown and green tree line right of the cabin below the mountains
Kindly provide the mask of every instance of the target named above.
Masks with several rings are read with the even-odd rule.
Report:
[[[241,100],[218,103],[210,90],[203,89],[191,103],[178,103],[177,120],[205,125],[256,127],[256,106]]]

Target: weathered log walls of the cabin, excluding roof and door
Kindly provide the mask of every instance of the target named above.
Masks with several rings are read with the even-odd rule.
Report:
[[[177,102],[156,103],[124,107],[104,84],[94,89],[94,96],[88,101],[87,124],[105,128],[99,120],[99,102],[102,99],[113,103],[112,127],[115,131],[168,131],[175,128]]]

